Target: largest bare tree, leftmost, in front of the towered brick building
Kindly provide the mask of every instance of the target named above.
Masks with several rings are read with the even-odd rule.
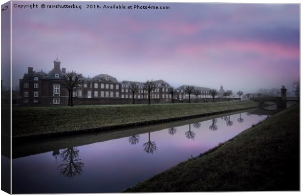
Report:
[[[82,74],[77,74],[76,72],[68,72],[62,77],[63,83],[62,86],[68,90],[68,106],[73,105],[73,89],[78,87],[81,83]]]

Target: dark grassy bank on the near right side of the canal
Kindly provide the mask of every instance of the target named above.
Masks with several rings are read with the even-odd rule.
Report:
[[[126,192],[299,191],[299,105]]]

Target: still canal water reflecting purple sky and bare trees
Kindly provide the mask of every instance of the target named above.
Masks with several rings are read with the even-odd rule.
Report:
[[[12,161],[13,193],[121,192],[266,117],[242,112],[201,118],[191,124],[16,158]]]

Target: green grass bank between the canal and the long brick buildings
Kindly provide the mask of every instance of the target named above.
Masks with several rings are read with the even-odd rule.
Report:
[[[106,127],[256,106],[251,101],[13,108],[13,137]]]

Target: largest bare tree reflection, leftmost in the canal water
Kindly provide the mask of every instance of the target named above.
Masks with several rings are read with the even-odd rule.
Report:
[[[81,174],[84,164],[79,158],[79,150],[77,148],[65,149],[61,153],[61,157],[63,157],[65,162],[59,166],[61,174],[69,178]]]

